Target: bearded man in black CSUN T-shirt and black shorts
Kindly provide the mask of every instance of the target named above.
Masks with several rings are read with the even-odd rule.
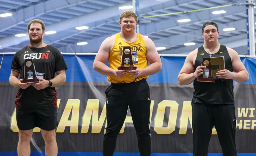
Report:
[[[17,51],[11,64],[10,84],[19,88],[16,99],[16,118],[19,128],[18,155],[30,155],[33,128],[41,128],[47,156],[57,156],[55,129],[57,121],[57,92],[55,87],[66,80],[67,65],[61,52],[43,42],[45,24],[41,20],[28,23],[30,45]],[[40,82],[23,84],[25,59],[32,58]],[[57,76],[55,76],[55,73]],[[26,74],[26,73],[25,73]],[[20,76],[21,79],[18,79]]]

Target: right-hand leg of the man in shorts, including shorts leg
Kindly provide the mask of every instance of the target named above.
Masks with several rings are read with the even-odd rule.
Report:
[[[58,126],[58,108],[42,108],[36,110],[36,126],[41,128],[42,136],[45,140],[45,155],[57,156],[58,145],[55,130]]]

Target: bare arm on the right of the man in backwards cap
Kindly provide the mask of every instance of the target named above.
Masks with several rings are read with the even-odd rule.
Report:
[[[216,76],[224,79],[233,79],[234,81],[239,83],[248,81],[249,73],[246,70],[245,66],[243,65],[238,53],[229,47],[227,47],[227,50],[232,60],[232,68],[234,72],[230,72],[224,69],[224,70],[218,71],[216,73]]]

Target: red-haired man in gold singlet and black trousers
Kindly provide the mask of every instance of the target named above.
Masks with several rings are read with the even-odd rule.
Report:
[[[121,32],[106,38],[96,54],[93,69],[108,75],[106,89],[107,127],[103,139],[103,156],[113,156],[116,139],[127,115],[128,106],[138,137],[141,156],[151,154],[150,90],[146,79],[162,69],[161,59],[153,41],[135,32],[138,17],[132,11],[120,16]],[[124,46],[131,46],[135,70],[121,67]],[[109,66],[105,65],[108,60]],[[150,65],[148,65],[148,62]],[[128,138],[127,138],[128,139]]]

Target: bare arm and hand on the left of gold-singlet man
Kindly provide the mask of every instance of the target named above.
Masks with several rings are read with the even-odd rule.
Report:
[[[106,38],[102,42],[93,62],[93,70],[99,72],[102,75],[116,76],[121,78],[127,73],[124,70],[118,70],[118,68],[121,67],[121,65],[117,66],[115,70],[105,65],[106,61],[109,58],[110,50],[112,49],[114,43],[115,35]]]

